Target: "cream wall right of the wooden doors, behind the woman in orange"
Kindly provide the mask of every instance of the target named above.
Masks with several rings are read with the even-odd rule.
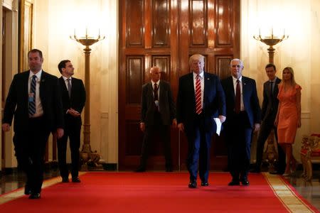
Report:
[[[303,134],[320,132],[319,125],[319,1],[302,0],[244,0],[241,1],[241,58],[245,63],[244,75],[257,81],[262,102],[262,84],[267,80],[265,65],[268,46],[254,40],[259,28],[285,28],[289,35],[274,48],[277,75],[282,77],[284,67],[294,69],[295,79],[302,86],[302,128],[298,129],[294,155],[299,159]]]

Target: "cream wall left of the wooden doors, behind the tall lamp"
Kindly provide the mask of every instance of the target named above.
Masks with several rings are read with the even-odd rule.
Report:
[[[85,47],[70,35],[85,35],[86,28],[89,36],[99,28],[105,35],[90,47],[90,145],[107,163],[117,163],[117,1],[36,0],[35,5],[33,48],[43,50],[43,69],[53,75],[60,77],[58,62],[69,59],[74,77],[85,82]]]

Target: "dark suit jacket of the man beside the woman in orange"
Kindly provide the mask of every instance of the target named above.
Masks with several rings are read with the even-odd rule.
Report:
[[[262,109],[261,109],[261,118],[262,121],[274,122],[274,119],[277,115],[279,99],[277,99],[277,95],[279,92],[278,85],[281,82],[281,79],[277,77],[275,80],[274,88],[272,95],[270,96],[270,83],[269,80],[263,84],[263,102],[262,102]]]

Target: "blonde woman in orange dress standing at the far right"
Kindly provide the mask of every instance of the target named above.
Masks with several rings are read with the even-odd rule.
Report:
[[[285,175],[296,169],[297,160],[292,154],[292,144],[297,128],[301,126],[301,87],[294,80],[292,67],[282,71],[282,82],[279,84],[279,107],[274,124],[277,126],[278,142],[286,153]]]

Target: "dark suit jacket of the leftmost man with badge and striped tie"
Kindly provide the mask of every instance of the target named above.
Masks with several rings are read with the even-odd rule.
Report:
[[[14,131],[23,131],[28,125],[28,77],[30,70],[14,75],[11,82],[3,123],[11,124],[14,117]],[[42,71],[39,96],[43,107],[43,118],[50,131],[64,127],[63,109],[58,78]]]

